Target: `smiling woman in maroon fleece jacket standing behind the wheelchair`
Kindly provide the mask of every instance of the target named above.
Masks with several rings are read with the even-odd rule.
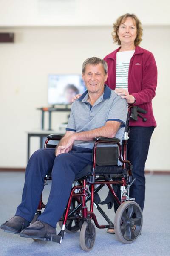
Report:
[[[120,45],[108,54],[104,60],[108,64],[107,84],[127,103],[139,106],[147,111],[143,122],[130,120],[130,132],[127,146],[127,159],[133,165],[133,178],[136,182],[130,187],[130,197],[136,198],[141,209],[144,208],[145,176],[144,166],[147,160],[150,138],[156,127],[153,116],[152,99],[157,85],[157,67],[153,54],[141,47],[142,26],[134,14],[120,16],[113,24],[113,41]],[[108,233],[114,233],[108,229]]]

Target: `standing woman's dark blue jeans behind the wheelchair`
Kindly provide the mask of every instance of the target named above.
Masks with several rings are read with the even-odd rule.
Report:
[[[132,163],[133,178],[136,178],[135,183],[130,187],[130,197],[136,198],[135,201],[142,210],[145,198],[144,167],[153,130],[154,127],[131,126],[128,140],[127,160]]]

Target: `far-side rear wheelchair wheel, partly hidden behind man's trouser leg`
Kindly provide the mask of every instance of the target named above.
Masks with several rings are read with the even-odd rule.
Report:
[[[76,208],[76,202],[77,201],[74,198],[72,198],[70,212]],[[78,214],[79,214],[79,212],[78,212]],[[73,216],[75,216],[75,215],[77,215],[77,213],[75,213]],[[62,221],[59,221],[58,224],[59,224],[59,227],[62,228]],[[65,230],[64,230],[66,233],[75,233],[78,230],[79,230],[79,220],[78,219],[71,219],[66,222]]]

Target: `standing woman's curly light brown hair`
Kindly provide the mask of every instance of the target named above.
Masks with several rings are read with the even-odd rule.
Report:
[[[119,40],[119,37],[118,37],[118,30],[119,30],[119,26],[120,24],[122,24],[126,19],[127,17],[130,17],[132,18],[133,20],[135,20],[135,25],[136,25],[136,29],[137,29],[137,35],[136,35],[136,38],[135,38],[135,41],[134,41],[134,44],[135,46],[139,45],[140,42],[142,41],[142,34],[143,34],[143,29],[142,29],[142,24],[140,22],[140,20],[138,19],[138,17],[135,15],[135,14],[130,14],[130,13],[126,13],[122,16],[120,16],[117,20],[116,20],[116,23],[113,23],[113,32],[112,32],[112,37],[113,37],[113,41],[115,43],[117,43],[118,45],[121,45],[121,42]]]

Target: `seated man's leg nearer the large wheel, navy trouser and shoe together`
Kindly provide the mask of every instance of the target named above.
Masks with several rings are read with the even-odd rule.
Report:
[[[71,191],[75,176],[87,164],[92,164],[92,151],[73,147],[69,153],[59,154],[54,160],[52,184],[47,205],[37,221],[24,229],[20,236],[29,238],[45,237],[56,233],[56,224],[61,218]]]

